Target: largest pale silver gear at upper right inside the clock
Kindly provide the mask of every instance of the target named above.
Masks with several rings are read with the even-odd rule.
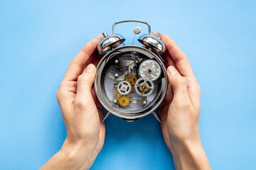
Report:
[[[155,60],[145,60],[139,64],[139,77],[151,79],[155,81],[161,75],[161,67]]]

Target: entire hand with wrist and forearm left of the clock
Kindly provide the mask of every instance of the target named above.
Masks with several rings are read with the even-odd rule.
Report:
[[[100,61],[95,52],[102,35],[87,43],[68,67],[56,93],[67,137],[63,147],[41,169],[90,169],[105,140],[102,106],[92,84],[95,65]],[[94,64],[92,64],[92,62]]]

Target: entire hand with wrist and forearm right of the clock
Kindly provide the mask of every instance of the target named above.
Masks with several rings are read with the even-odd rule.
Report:
[[[163,56],[169,79],[166,97],[159,107],[164,140],[174,157],[176,169],[210,169],[199,136],[201,89],[188,57],[167,35]]]

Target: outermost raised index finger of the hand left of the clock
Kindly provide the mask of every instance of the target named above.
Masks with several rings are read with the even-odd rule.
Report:
[[[70,62],[70,66],[68,67],[68,71],[66,72],[63,81],[76,81],[78,79],[78,76],[82,72],[82,68],[92,53],[95,52],[100,40],[102,40],[102,35],[98,35],[97,38],[90,40],[90,42],[82,47],[82,50],[80,50],[78,55],[76,55],[72,62]]]

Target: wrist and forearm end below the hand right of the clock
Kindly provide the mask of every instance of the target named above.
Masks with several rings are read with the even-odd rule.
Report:
[[[172,144],[171,153],[176,169],[211,169],[200,139]]]

